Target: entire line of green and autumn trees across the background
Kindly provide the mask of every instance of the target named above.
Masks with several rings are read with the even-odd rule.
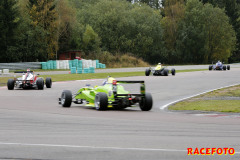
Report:
[[[0,62],[129,54],[154,64],[240,60],[240,0],[1,0]]]

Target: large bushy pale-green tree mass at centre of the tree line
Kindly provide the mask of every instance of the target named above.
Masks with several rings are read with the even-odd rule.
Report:
[[[130,52],[149,61],[161,56],[161,16],[147,5],[102,0],[79,10],[77,18],[98,34],[103,50]]]

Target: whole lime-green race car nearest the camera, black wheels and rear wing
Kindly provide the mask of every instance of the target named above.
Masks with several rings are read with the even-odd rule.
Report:
[[[126,91],[120,84],[140,84],[140,93],[132,94]],[[117,81],[112,77],[108,77],[102,86],[90,87],[86,86],[76,94],[72,94],[69,90],[64,90],[59,98],[59,104],[63,107],[70,107],[71,103],[83,104],[95,107],[96,110],[124,109],[134,107],[139,104],[142,111],[152,109],[152,96],[145,92],[144,81]]]

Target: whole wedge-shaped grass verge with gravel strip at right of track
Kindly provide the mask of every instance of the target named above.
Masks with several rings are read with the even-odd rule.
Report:
[[[240,112],[240,85],[219,89],[168,107],[169,110]]]

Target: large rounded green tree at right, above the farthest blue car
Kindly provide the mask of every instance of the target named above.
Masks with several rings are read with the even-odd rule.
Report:
[[[227,62],[235,49],[236,36],[224,10],[188,0],[184,14],[172,15],[183,12],[178,3],[170,4],[162,21],[168,57],[176,57],[177,63],[200,64],[218,59]]]

